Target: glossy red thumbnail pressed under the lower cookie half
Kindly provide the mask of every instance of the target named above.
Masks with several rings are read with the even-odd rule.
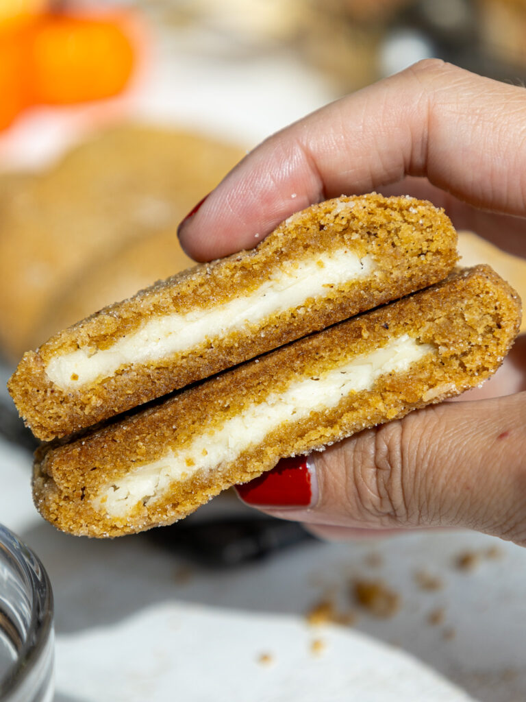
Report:
[[[238,496],[253,507],[308,508],[318,501],[316,468],[309,456],[282,458],[276,468],[244,485]]]

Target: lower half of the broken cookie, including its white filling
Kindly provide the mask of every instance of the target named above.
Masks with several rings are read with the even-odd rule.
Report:
[[[479,385],[520,324],[490,267],[342,322],[36,457],[34,499],[59,529],[118,536],[170,524],[283,456]]]

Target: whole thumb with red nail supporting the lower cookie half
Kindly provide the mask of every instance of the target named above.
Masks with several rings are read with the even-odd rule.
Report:
[[[467,527],[526,545],[525,416],[525,393],[429,406],[285,459],[238,494],[307,524]]]

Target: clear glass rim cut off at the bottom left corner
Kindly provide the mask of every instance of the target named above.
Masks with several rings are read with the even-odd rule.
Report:
[[[0,702],[51,702],[53,592],[32,550],[0,524]]]

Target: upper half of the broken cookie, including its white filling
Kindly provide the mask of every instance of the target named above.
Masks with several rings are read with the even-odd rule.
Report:
[[[27,352],[9,389],[40,439],[86,428],[443,279],[457,235],[410,197],[341,197]]]

